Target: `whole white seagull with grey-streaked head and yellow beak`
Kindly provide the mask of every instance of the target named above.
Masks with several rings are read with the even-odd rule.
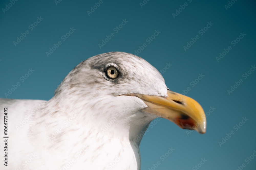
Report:
[[[206,132],[198,102],[171,91],[150,63],[124,52],[82,61],[48,101],[0,98],[0,108],[8,145],[1,166],[11,170],[140,170],[137,137],[157,117]]]

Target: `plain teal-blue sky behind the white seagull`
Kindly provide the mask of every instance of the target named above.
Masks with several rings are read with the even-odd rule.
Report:
[[[190,87],[186,95],[197,100],[205,112],[210,107],[216,109],[207,117],[204,135],[190,134],[168,120],[155,120],[157,124],[152,124],[140,145],[142,169],[153,170],[152,164],[157,161],[161,163],[157,170],[197,169],[194,166],[201,159],[207,160],[202,170],[235,170],[243,163],[244,169],[255,169],[256,158],[249,162],[246,159],[256,150],[256,71],[246,79],[243,76],[256,65],[255,1],[232,1],[235,3],[226,10],[228,1],[151,0],[141,7],[142,0],[103,0],[89,16],[87,11],[98,2],[62,0],[56,5],[54,0],[19,0],[3,12],[10,2],[1,1],[0,97],[5,98],[8,89],[20,82],[7,98],[49,100],[63,78],[82,60],[109,51],[134,54],[146,43],[138,56],[158,70],[163,70],[166,63],[172,64],[163,70],[167,87],[178,93]],[[184,3],[187,6],[174,18],[172,14]],[[37,17],[43,19],[30,30],[29,25]],[[128,22],[116,33],[113,29],[123,19]],[[201,35],[198,31],[208,22],[211,27]],[[63,41],[61,36],[70,28],[75,31]],[[15,46],[13,41],[26,30],[29,34]],[[146,39],[155,30],[161,33],[148,44]],[[100,48],[98,44],[112,32],[114,36]],[[246,35],[233,46],[231,42],[240,33]],[[185,51],[184,46],[196,35],[199,39]],[[48,57],[46,52],[58,41],[62,44]],[[228,46],[232,49],[217,61]],[[20,81],[31,68],[35,71]],[[198,74],[204,77],[194,84]],[[243,82],[229,94],[227,90],[239,79]],[[240,123],[245,117],[248,120]],[[238,125],[236,131],[234,126],[239,123],[242,126]],[[234,134],[220,147],[219,142],[231,130]],[[169,147],[175,150],[162,161],[160,156]]]

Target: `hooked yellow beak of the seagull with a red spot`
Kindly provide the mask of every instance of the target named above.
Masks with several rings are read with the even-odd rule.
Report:
[[[167,90],[167,97],[143,94],[126,94],[141,98],[148,106],[142,111],[156,114],[174,122],[183,129],[194,129],[198,133],[206,132],[206,117],[200,104],[194,99]]]

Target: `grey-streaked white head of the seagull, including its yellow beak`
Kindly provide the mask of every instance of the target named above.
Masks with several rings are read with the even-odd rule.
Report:
[[[171,91],[156,68],[129,53],[110,52],[84,60],[65,77],[54,97],[66,103],[63,107],[79,108],[80,121],[100,129],[107,126],[114,133],[127,131],[130,137],[157,117],[206,132],[200,104]]]

